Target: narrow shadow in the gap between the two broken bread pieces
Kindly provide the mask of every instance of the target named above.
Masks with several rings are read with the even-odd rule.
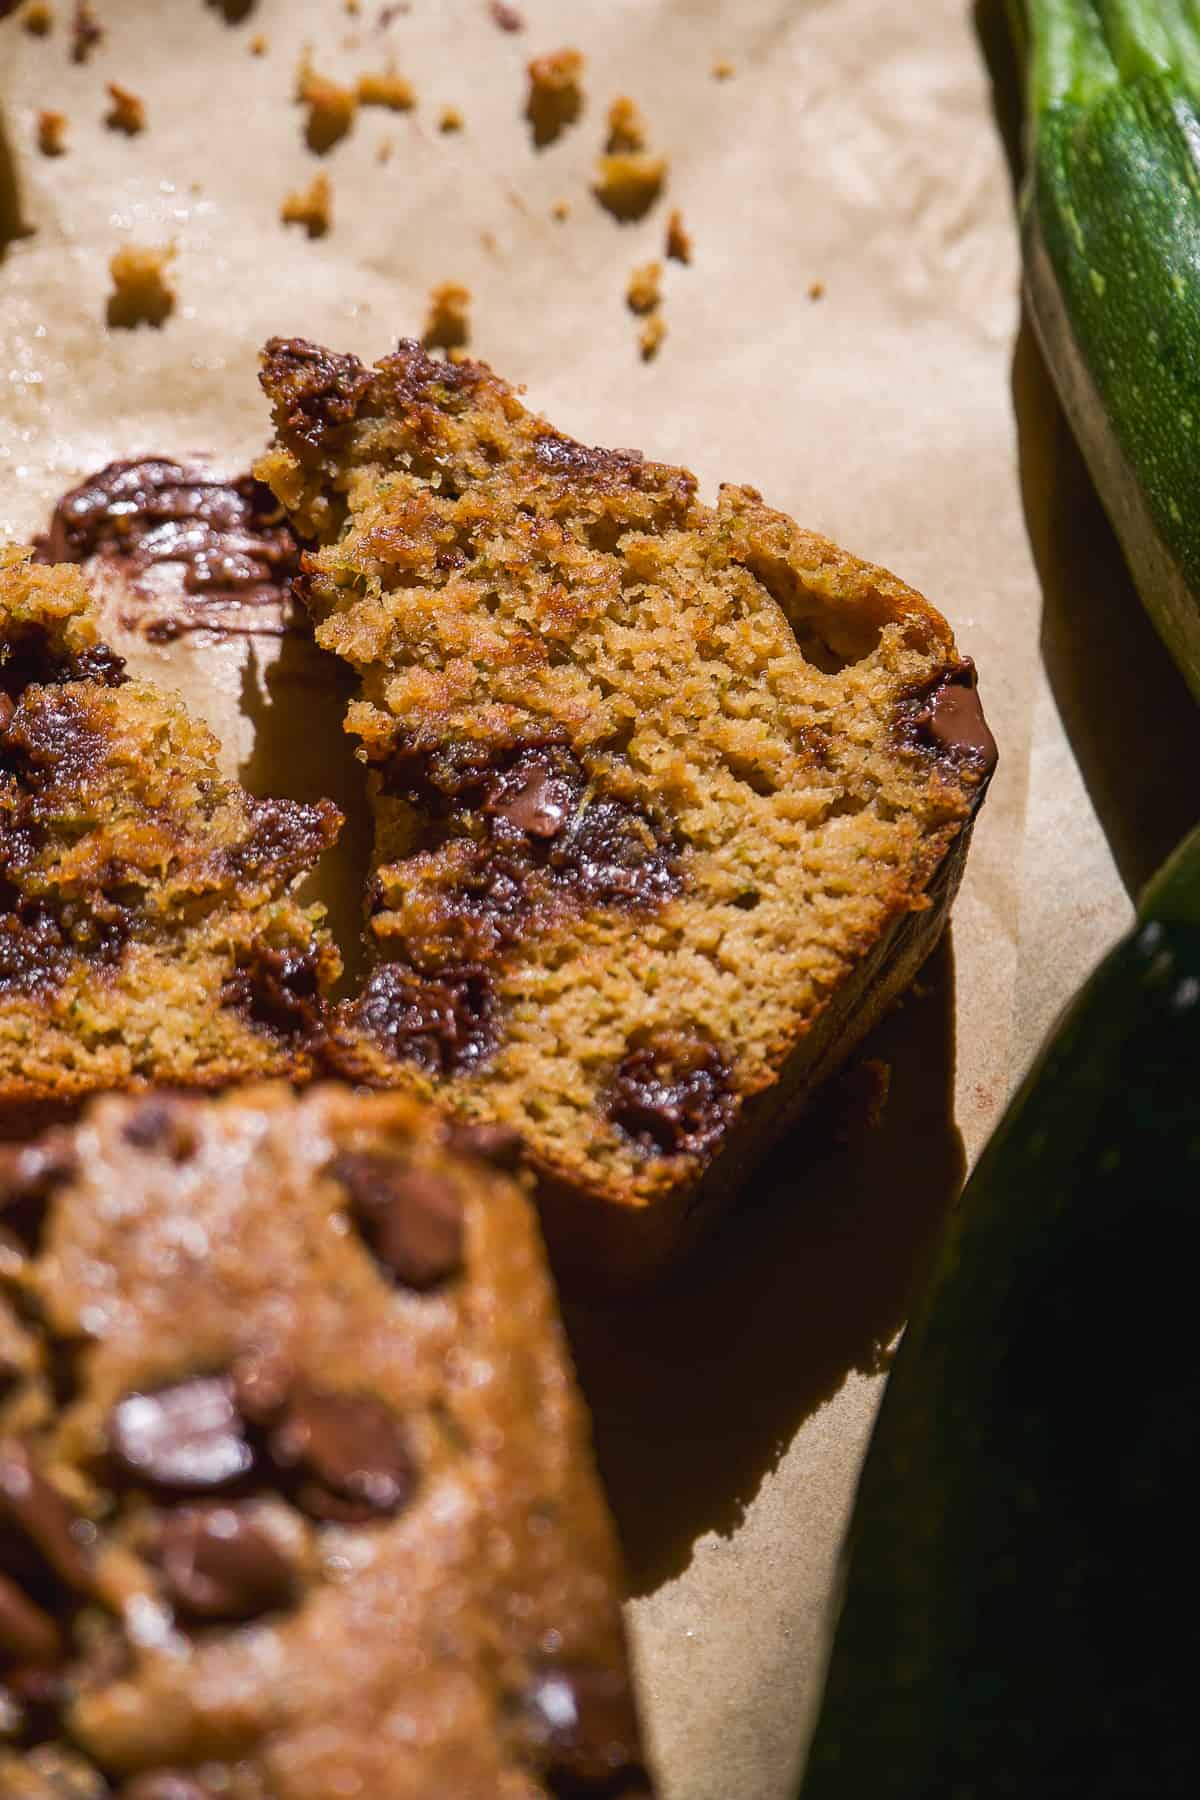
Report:
[[[241,677],[243,713],[254,725],[254,749],[237,779],[252,794],[282,799],[331,799],[345,824],[297,895],[320,900],[345,965],[335,994],[353,994],[365,977],[363,904],[372,824],[365,774],[354,740],[342,731],[354,675],[300,632],[279,639],[279,655],[261,662],[250,641]]]

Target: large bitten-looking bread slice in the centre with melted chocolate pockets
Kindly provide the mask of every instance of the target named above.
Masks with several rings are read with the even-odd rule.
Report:
[[[263,385],[374,785],[340,1066],[520,1130],[556,1253],[646,1273],[936,943],[973,668],[894,576],[482,364],[273,340]]]

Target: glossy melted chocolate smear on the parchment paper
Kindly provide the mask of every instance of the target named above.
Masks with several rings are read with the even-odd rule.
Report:
[[[119,567],[155,603],[139,623],[162,639],[228,628],[241,608],[286,610],[300,551],[261,481],[146,457],[108,463],[65,493],[38,556]]]

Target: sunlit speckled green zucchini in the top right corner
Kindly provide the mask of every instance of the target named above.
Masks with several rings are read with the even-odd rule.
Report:
[[[1029,310],[1142,603],[1200,698],[1200,4],[1016,14]]]

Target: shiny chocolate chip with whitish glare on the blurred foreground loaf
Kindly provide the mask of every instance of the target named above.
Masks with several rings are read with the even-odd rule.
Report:
[[[227,1375],[196,1375],[119,1400],[108,1420],[108,1447],[135,1481],[180,1494],[228,1487],[254,1463]]]

